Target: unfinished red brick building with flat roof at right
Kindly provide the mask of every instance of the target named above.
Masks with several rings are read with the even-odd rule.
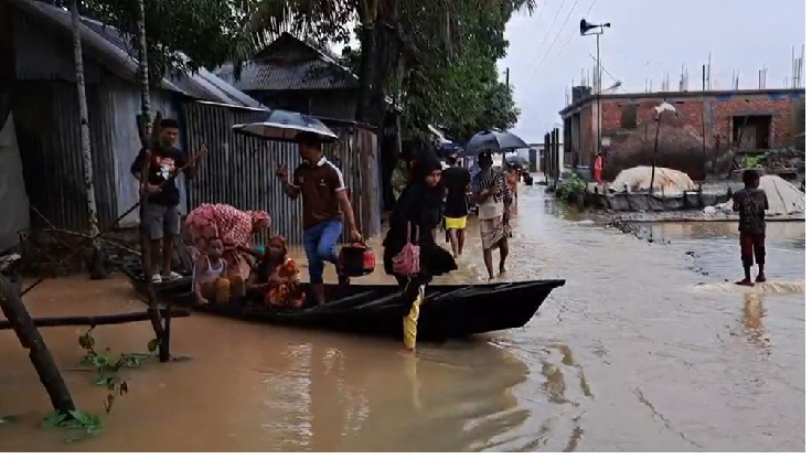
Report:
[[[573,88],[573,103],[559,111],[564,121],[565,161],[570,166],[591,163],[597,148],[612,146],[654,118],[654,107],[663,100],[672,104],[681,124],[705,138],[754,151],[776,147],[803,148],[804,89],[739,89],[708,92],[662,92],[602,94],[600,139],[598,138],[598,98],[589,88]],[[602,141],[601,141],[602,140]]]

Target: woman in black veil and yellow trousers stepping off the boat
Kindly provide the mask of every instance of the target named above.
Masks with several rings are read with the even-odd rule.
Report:
[[[383,243],[384,269],[403,289],[403,342],[407,351],[414,351],[417,342],[417,320],[426,286],[434,276],[457,269],[451,254],[437,245],[434,236],[442,217],[444,190],[438,186],[441,172],[442,164],[436,157],[426,154],[418,160],[412,180],[392,211]],[[420,247],[419,271],[405,276],[395,271],[393,258],[409,242]]]

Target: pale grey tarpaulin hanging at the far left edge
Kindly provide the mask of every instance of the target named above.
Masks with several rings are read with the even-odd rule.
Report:
[[[10,113],[0,120],[0,252],[3,252],[17,245],[18,233],[29,227],[29,196]]]

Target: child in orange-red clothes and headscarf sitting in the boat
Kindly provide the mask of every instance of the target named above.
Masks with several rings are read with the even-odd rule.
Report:
[[[248,289],[261,293],[271,308],[301,308],[304,292],[299,279],[299,267],[288,257],[282,236],[274,236],[248,277]]]

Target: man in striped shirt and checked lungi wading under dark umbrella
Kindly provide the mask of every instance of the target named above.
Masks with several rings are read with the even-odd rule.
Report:
[[[499,274],[505,274],[507,237],[510,236],[510,205],[513,196],[501,169],[493,168],[489,150],[479,153],[480,171],[471,182],[471,192],[479,204],[479,232],[482,238],[482,255],[488,269],[488,280],[493,279],[493,249],[499,248]]]

